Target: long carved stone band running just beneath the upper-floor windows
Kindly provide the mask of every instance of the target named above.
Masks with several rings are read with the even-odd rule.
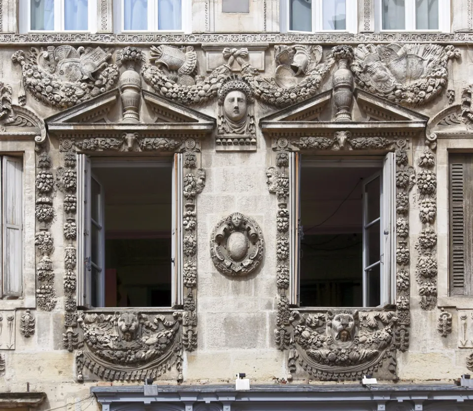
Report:
[[[202,33],[202,34],[101,34],[101,33],[34,33],[34,34],[0,34],[3,46],[34,44],[80,44],[94,45],[128,45],[145,44],[351,44],[362,43],[439,43],[467,44],[473,42],[473,33]]]

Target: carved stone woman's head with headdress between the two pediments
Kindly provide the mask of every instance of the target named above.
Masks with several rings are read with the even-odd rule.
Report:
[[[243,78],[228,77],[218,91],[217,150],[256,150],[254,98]]]

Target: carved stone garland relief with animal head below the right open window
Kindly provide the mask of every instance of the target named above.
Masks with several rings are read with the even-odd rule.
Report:
[[[392,311],[334,310],[326,313],[300,314],[289,318],[296,350],[290,351],[295,362],[307,374],[321,380],[359,379],[364,374],[381,371],[395,374],[394,331],[397,317]]]

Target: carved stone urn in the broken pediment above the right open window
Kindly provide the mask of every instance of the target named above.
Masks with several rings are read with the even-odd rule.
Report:
[[[353,49],[350,46],[336,46],[333,53],[335,60],[338,60],[338,69],[334,73],[335,121],[351,121],[353,74],[348,62],[353,58]]]

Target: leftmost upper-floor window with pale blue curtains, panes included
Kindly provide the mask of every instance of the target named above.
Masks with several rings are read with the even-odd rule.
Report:
[[[92,31],[93,0],[28,0],[28,31]]]

